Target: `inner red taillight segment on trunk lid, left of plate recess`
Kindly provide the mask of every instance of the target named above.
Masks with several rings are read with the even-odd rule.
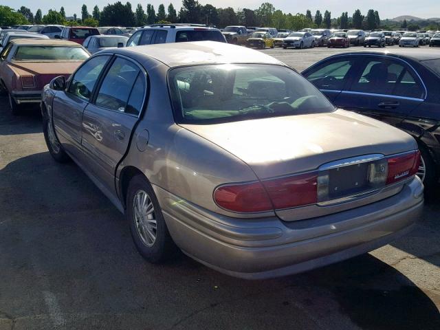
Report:
[[[318,173],[306,173],[263,181],[274,208],[293,208],[318,201]]]

